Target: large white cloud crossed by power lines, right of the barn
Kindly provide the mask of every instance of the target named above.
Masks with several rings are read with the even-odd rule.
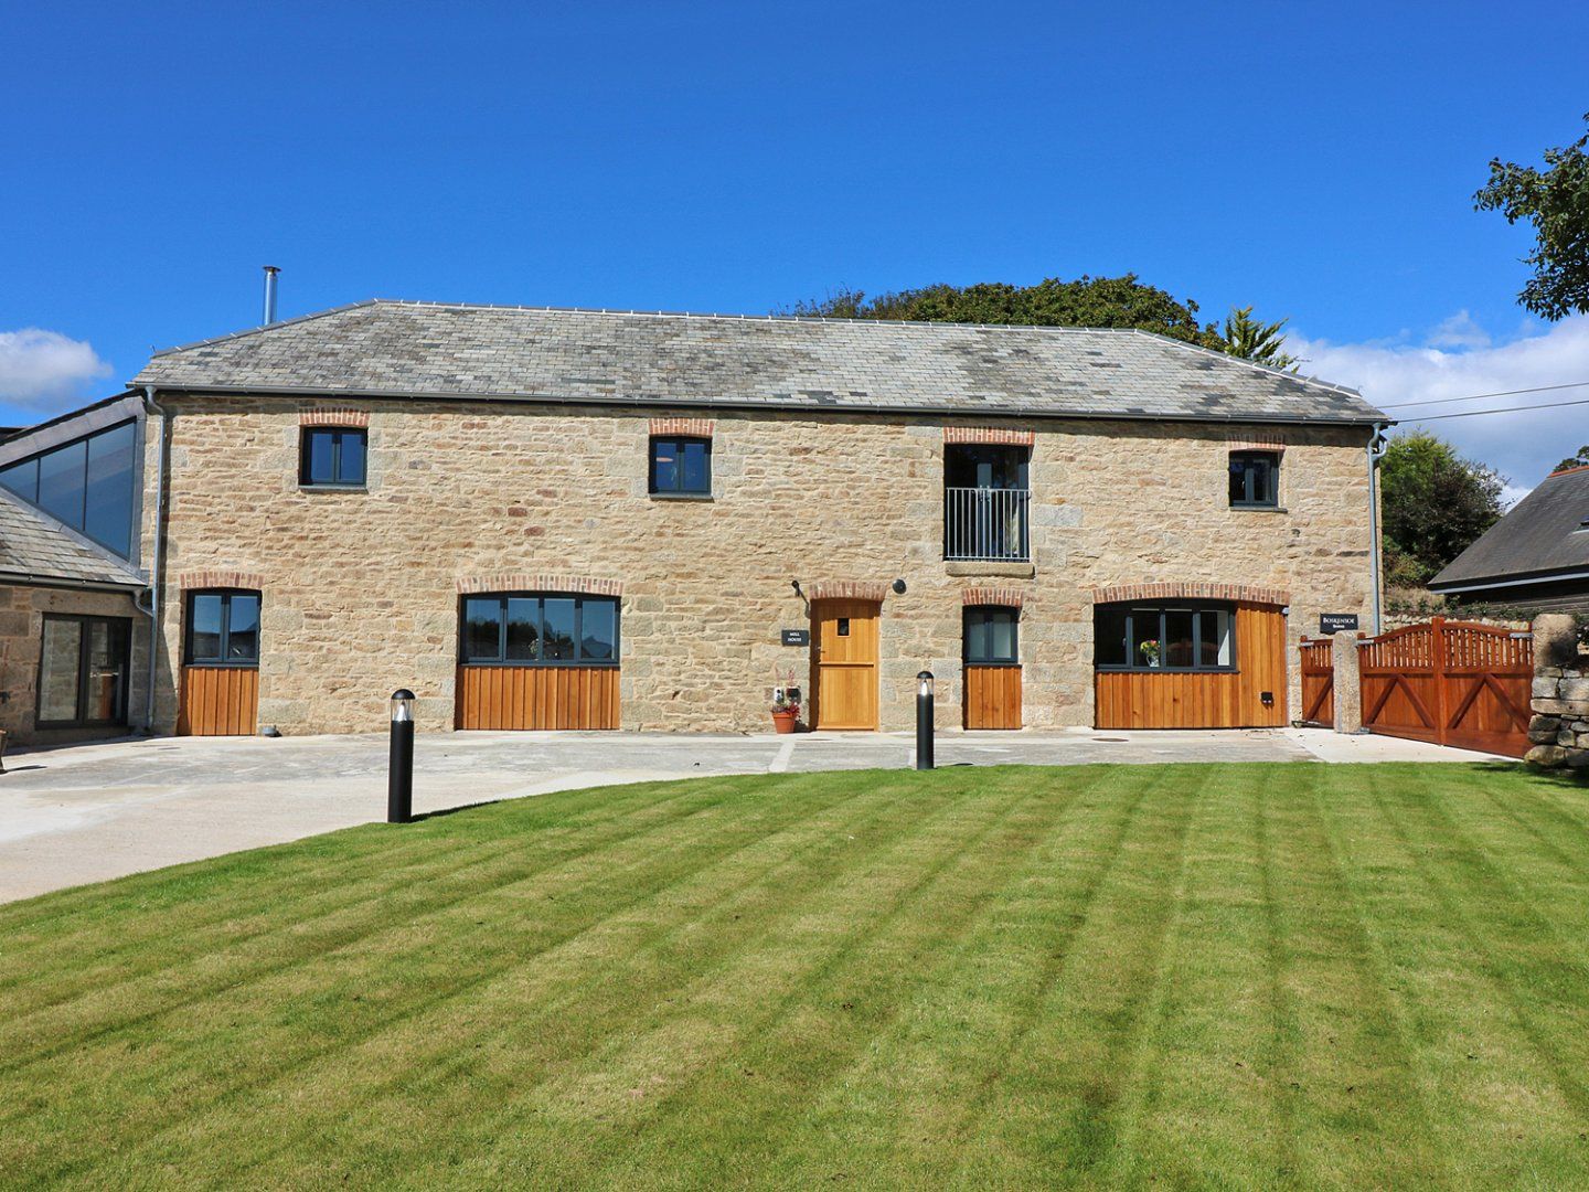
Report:
[[[1584,316],[1545,329],[1525,326],[1516,339],[1497,343],[1463,310],[1435,327],[1424,343],[1411,343],[1405,335],[1395,342],[1330,343],[1297,334],[1287,339],[1286,350],[1303,358],[1303,372],[1360,389],[1363,397],[1400,420],[1403,429],[1433,431],[1456,443],[1462,455],[1510,477],[1508,501],[1524,496],[1564,456],[1589,443],[1589,404],[1481,418],[1429,416],[1589,402],[1589,318]],[[1570,381],[1586,385],[1476,402],[1405,405]]]

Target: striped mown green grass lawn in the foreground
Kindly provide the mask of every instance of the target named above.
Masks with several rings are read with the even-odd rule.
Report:
[[[0,908],[0,1184],[1589,1186],[1589,790],[617,787]]]

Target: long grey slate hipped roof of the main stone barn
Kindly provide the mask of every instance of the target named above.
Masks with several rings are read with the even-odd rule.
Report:
[[[373,300],[157,353],[133,385],[957,415],[1389,421],[1141,331]]]

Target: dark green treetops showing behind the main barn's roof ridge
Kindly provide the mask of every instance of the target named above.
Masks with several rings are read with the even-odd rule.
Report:
[[[1216,351],[1225,340],[1212,323],[1198,323],[1198,305],[1125,277],[1046,278],[1036,286],[985,281],[923,286],[868,297],[841,289],[822,300],[796,302],[794,315],[912,323],[992,323],[1042,327],[1139,327]]]

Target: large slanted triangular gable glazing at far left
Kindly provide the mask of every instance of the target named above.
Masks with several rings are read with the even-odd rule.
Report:
[[[0,467],[0,485],[132,558],[138,424],[121,423]]]

